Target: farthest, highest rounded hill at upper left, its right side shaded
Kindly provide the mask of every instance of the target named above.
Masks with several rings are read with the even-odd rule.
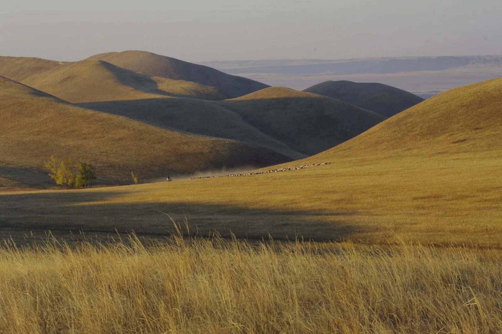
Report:
[[[261,82],[226,74],[211,67],[146,51],[107,52],[87,59],[104,60],[151,76],[187,80],[213,86],[230,97],[242,96],[268,87]]]

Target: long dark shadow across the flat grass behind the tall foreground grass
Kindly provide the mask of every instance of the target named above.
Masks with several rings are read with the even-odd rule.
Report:
[[[136,231],[150,236],[174,231],[170,217],[189,223],[191,234],[209,235],[218,231],[223,237],[234,233],[239,238],[261,239],[270,234],[276,239],[304,237],[338,240],[360,232],[346,222],[353,212],[299,211],[247,208],[222,204],[175,202],[106,203],[122,192],[68,191],[0,195],[0,235],[24,235],[30,231],[78,231],[121,233]],[[164,213],[162,213],[162,212]],[[168,215],[166,215],[168,214]]]

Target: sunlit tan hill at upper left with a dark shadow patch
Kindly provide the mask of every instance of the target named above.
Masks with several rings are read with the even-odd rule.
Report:
[[[101,60],[60,63],[39,58],[9,57],[0,66],[0,75],[73,103],[166,96],[206,100],[226,97],[214,87],[150,77]]]

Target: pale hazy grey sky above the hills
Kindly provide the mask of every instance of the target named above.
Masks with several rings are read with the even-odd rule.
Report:
[[[188,61],[502,54],[501,0],[3,2],[0,55]]]

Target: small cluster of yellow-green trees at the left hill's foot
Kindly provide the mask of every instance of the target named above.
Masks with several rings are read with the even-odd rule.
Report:
[[[51,155],[44,165],[61,189],[92,187],[92,180],[96,180],[94,166],[88,162],[74,162],[72,158],[59,160]]]

